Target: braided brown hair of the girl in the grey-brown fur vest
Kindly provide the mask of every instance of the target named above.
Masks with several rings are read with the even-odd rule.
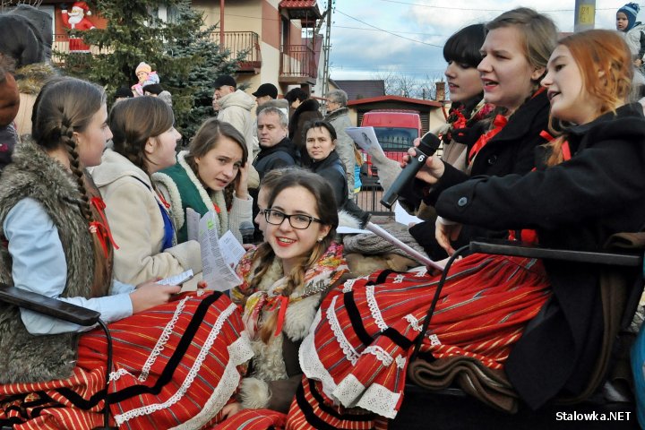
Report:
[[[92,219],[90,198],[74,133],[85,131],[105,103],[106,93],[98,85],[70,77],[56,77],[43,86],[31,113],[34,141],[44,150],[64,147],[67,151],[70,168],[82,195],[79,206],[88,222]]]

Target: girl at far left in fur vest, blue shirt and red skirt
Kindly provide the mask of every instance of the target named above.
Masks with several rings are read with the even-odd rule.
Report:
[[[174,296],[177,286],[113,280],[116,243],[85,171],[112,137],[100,87],[48,82],[32,123],[1,178],[0,282],[99,311],[114,368],[106,390],[102,330],[0,303],[0,426],[94,428],[106,395],[118,426],[210,426],[252,355],[236,305],[220,293]]]

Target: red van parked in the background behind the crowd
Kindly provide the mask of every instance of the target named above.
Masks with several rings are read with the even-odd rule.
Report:
[[[400,159],[408,152],[417,137],[421,136],[421,116],[416,110],[376,109],[366,112],[361,121],[363,127],[374,127],[374,133],[381,143],[388,159]],[[369,155],[363,153],[367,175],[378,176]]]

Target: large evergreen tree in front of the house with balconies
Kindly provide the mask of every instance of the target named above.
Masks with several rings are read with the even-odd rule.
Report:
[[[100,0],[88,2],[107,20],[105,29],[76,32],[99,47],[96,55],[64,55],[65,71],[103,85],[108,95],[137,82],[134,70],[144,61],[159,73],[160,83],[173,97],[176,128],[185,142],[213,114],[213,84],[220,73],[234,74],[241,58],[211,41],[215,27],[202,29],[202,13],[188,0]],[[168,21],[159,7],[168,8]],[[242,55],[244,56],[244,54]]]

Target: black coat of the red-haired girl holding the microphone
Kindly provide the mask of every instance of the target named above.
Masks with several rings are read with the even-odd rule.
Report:
[[[483,176],[445,190],[435,209],[482,228],[535,228],[542,245],[598,249],[645,224],[645,119],[632,104],[572,127],[572,159],[527,175]],[[505,371],[533,408],[580,392],[602,335],[598,266],[545,262],[553,297],[514,346]],[[632,269],[627,276],[635,276]]]

